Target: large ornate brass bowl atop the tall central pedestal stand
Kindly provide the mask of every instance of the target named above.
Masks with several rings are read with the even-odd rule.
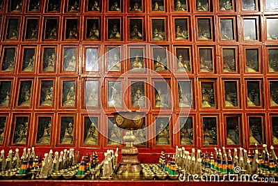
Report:
[[[145,112],[142,111],[118,111],[113,113],[117,127],[125,130],[138,130],[141,128]]]

